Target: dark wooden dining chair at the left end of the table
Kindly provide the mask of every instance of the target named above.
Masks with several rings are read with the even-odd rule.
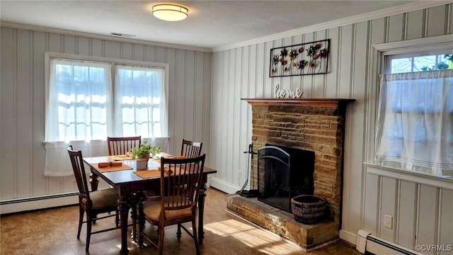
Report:
[[[88,181],[86,179],[84,160],[82,152],[73,150],[72,146],[68,147],[69,159],[71,159],[72,170],[76,177],[77,188],[79,188],[79,230],[77,231],[77,239],[80,238],[81,227],[86,223],[86,244],[85,250],[88,252],[90,246],[91,234],[120,229],[120,217],[118,213],[118,194],[113,188],[102,189],[90,192],[88,190]],[[84,214],[86,212],[86,221]],[[107,213],[108,215],[98,217],[98,214]],[[115,212],[115,214],[110,214]],[[96,220],[101,220],[108,217],[115,217],[115,227],[105,228],[98,231],[92,231],[92,225]]]

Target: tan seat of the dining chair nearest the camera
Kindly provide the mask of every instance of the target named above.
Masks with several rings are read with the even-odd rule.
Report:
[[[178,197],[165,197],[164,201],[167,203],[168,200],[170,199],[175,199],[175,201],[179,201],[181,198],[180,196]],[[154,221],[159,221],[159,214],[161,212],[161,200],[151,200],[151,201],[146,201],[143,203],[143,212],[144,215],[147,215],[149,220],[154,220]],[[172,219],[172,218],[179,218],[179,217],[187,217],[187,216],[192,216],[192,207],[189,208],[184,208],[180,210],[166,210],[165,211],[165,217],[166,220]]]

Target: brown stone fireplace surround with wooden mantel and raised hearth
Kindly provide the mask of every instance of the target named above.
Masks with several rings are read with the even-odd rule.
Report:
[[[345,107],[354,99],[244,98],[252,106],[253,148],[266,144],[305,149],[315,153],[314,195],[328,202],[329,216],[315,225],[304,225],[284,210],[256,198],[230,196],[227,208],[261,227],[291,239],[307,251],[338,239],[343,183]],[[258,170],[253,162],[253,183]]]

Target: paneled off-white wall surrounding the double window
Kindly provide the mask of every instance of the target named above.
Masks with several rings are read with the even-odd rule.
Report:
[[[3,26],[0,43],[0,200],[76,191],[72,176],[44,176],[45,52],[168,63],[170,152],[183,138],[210,151],[212,53]]]

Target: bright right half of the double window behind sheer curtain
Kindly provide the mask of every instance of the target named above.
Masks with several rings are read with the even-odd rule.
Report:
[[[115,135],[167,137],[165,72],[161,68],[115,67]]]

